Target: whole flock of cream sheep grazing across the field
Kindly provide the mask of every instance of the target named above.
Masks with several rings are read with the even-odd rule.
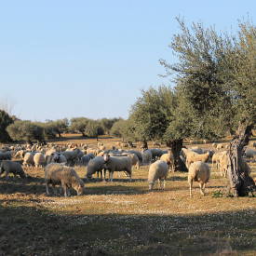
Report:
[[[121,146],[120,142],[116,143],[115,146]],[[62,147],[53,143],[44,147],[39,145],[3,146],[0,149],[0,175],[6,172],[6,179],[8,179],[9,173],[12,173],[15,179],[17,175],[20,178],[25,178],[26,173],[23,167],[44,167],[47,195],[49,195],[49,184],[52,184],[54,195],[58,195],[56,185],[59,185],[60,194],[63,188],[64,195],[68,196],[70,195],[71,187],[74,188],[77,195],[82,195],[85,190],[85,183],[72,166],[85,166],[88,182],[95,173],[97,173],[98,179],[100,179],[99,176],[101,175],[101,179],[105,181],[107,170],[110,182],[113,182],[113,174],[116,171],[124,171],[131,182],[132,168],[140,168],[143,165],[149,166],[147,179],[149,189],[153,189],[157,180],[159,181],[160,189],[162,188],[162,180],[164,180],[165,187],[168,173],[174,169],[174,159],[168,150],[160,148],[141,149],[141,151],[134,149],[124,150],[116,149],[115,146],[108,150],[100,142],[97,150],[89,149],[87,144],[78,145],[74,143]],[[159,145],[155,143],[155,146]],[[255,149],[256,143],[252,143],[251,146]],[[214,150],[203,151],[199,147],[182,148],[180,155],[189,169],[190,196],[192,196],[193,182],[199,182],[200,193],[205,195],[205,187],[210,178],[209,159],[212,162],[211,168],[216,165],[222,176],[227,176],[227,152],[223,149],[222,144],[213,143],[212,147],[216,153]],[[17,157],[23,159],[22,166],[18,161],[12,161],[13,158]],[[255,160],[256,151],[245,149],[245,157],[249,158],[249,160]],[[250,168],[244,158],[243,165],[244,169],[249,173]]]

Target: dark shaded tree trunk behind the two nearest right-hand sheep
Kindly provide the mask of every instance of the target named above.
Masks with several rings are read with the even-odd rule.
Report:
[[[182,158],[180,156],[182,145],[183,145],[182,139],[167,142],[167,146],[170,148],[174,158],[174,171],[177,171],[177,170],[188,171],[185,163],[182,161]]]

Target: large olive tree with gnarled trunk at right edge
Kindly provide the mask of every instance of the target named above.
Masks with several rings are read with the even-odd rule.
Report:
[[[253,180],[242,167],[242,149],[256,120],[256,33],[249,20],[240,20],[236,34],[217,34],[202,22],[172,38],[170,48],[178,63],[160,60],[167,75],[176,74],[177,92],[190,107],[197,136],[234,135],[228,150],[229,184],[226,193],[255,194]],[[235,134],[236,133],[236,134]]]

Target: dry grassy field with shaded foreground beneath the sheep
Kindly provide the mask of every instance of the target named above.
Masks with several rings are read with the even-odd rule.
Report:
[[[97,147],[66,137],[55,142]],[[256,163],[249,166],[255,179]],[[171,173],[166,189],[155,184],[149,192],[148,167],[134,169],[132,182],[121,173],[114,182],[89,183],[86,168],[74,168],[84,195],[47,196],[43,169],[25,168],[26,180],[0,178],[1,255],[256,255],[256,199],[222,197],[228,181],[216,169],[207,195],[194,183],[191,198],[187,173]]]

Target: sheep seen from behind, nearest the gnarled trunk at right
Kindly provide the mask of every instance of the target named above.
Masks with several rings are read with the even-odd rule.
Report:
[[[192,196],[193,182],[199,182],[200,193],[205,195],[206,183],[209,182],[210,170],[208,164],[202,161],[194,162],[188,170],[189,192]]]

